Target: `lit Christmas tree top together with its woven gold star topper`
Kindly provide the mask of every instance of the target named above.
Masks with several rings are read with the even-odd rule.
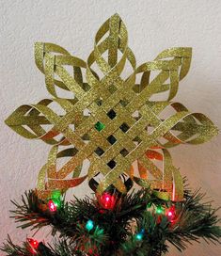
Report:
[[[206,116],[171,101],[191,55],[191,48],[171,48],[136,67],[118,14],[100,27],[87,62],[53,43],[35,44],[52,98],[20,106],[6,123],[52,149],[36,189],[12,200],[11,213],[23,229],[50,226],[58,236],[52,245],[33,237],[15,245],[8,236],[6,255],[157,256],[201,237],[219,242],[216,209],[189,189],[168,152],[217,134]],[[126,68],[132,72],[123,78]],[[156,100],[161,93],[166,99]],[[86,180],[91,196],[65,200]]]

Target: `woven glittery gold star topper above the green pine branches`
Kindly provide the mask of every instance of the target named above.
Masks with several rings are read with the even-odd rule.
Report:
[[[115,14],[97,32],[87,62],[53,43],[35,44],[36,64],[53,98],[20,106],[6,123],[21,136],[52,145],[48,162],[39,171],[40,198],[98,174],[98,193],[110,184],[126,193],[120,178],[126,174],[135,183],[150,186],[159,198],[182,200],[182,176],[167,149],[203,143],[217,134],[203,114],[171,102],[189,71],[191,48],[167,49],[136,67],[127,43],[126,26]],[[122,78],[128,66],[133,72]],[[60,96],[62,90],[70,98]],[[151,99],[162,92],[167,93],[164,101]],[[64,114],[56,114],[55,104]],[[162,117],[167,109],[172,114]],[[59,159],[67,161],[57,168]],[[80,176],[85,159],[90,165],[87,174]]]

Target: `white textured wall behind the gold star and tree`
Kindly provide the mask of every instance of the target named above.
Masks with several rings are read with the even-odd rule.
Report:
[[[86,59],[97,29],[115,12],[127,24],[129,44],[138,63],[151,60],[167,47],[193,47],[191,71],[182,81],[176,100],[205,113],[221,127],[220,0],[2,0],[0,243],[7,233],[14,241],[25,237],[26,232],[16,230],[8,219],[9,200],[19,200],[24,190],[35,187],[49,150],[41,141],[16,135],[3,123],[17,106],[49,97],[44,77],[34,63],[33,44],[37,40],[55,42]],[[205,145],[172,150],[182,174],[193,187],[202,186],[215,205],[221,205],[220,143],[221,136],[217,136]],[[75,190],[78,195],[85,194],[81,186]],[[180,254],[174,250],[170,255]],[[182,255],[221,255],[221,251],[202,243]]]

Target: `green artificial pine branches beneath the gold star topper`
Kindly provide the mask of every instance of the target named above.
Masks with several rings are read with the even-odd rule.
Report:
[[[16,209],[11,212],[16,222],[21,222],[21,228],[40,229],[50,225],[53,235],[55,232],[60,233],[62,239],[55,243],[54,249],[39,244],[40,256],[158,256],[167,252],[166,242],[181,251],[200,237],[218,242],[221,230],[218,227],[217,210],[213,209],[210,201],[203,202],[203,199],[204,195],[200,191],[192,193],[188,188],[185,189],[182,202],[160,200],[150,189],[143,189],[118,195],[112,210],[103,209],[95,197],[86,197],[70,203],[62,201],[61,207],[51,213],[42,207],[44,202],[38,199],[35,191],[29,191],[22,197],[22,204],[13,201]],[[152,206],[147,210],[150,204]],[[172,204],[176,207],[174,222],[154,211],[158,205],[169,207]],[[89,219],[95,225],[91,231],[86,229]],[[141,230],[143,237],[138,241],[135,235]],[[20,248],[8,239],[2,249],[8,255],[30,255],[25,248],[25,243]]]

